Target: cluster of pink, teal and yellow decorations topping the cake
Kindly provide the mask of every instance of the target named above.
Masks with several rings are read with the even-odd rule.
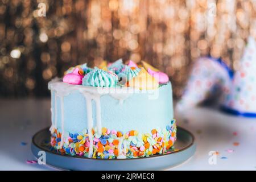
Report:
[[[69,68],[63,78],[63,82],[73,85],[94,87],[129,86],[137,89],[157,89],[169,81],[166,73],[160,72],[150,64],[142,61],[137,65],[129,60],[123,64],[122,59],[107,64],[102,61],[98,67],[89,68],[87,64],[80,64]]]

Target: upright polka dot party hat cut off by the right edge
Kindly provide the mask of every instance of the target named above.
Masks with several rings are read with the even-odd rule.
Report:
[[[245,117],[256,117],[256,42],[249,37],[240,67],[236,71],[230,92],[225,93],[221,109]]]

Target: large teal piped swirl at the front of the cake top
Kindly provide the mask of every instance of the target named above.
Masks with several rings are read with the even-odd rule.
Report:
[[[94,67],[87,75],[82,78],[82,85],[96,87],[115,87],[117,86],[118,77],[114,73],[106,72]]]

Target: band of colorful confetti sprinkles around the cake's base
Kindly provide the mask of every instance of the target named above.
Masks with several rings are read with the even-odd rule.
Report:
[[[122,131],[109,130],[102,127],[101,133],[97,129],[93,133],[93,159],[116,159],[119,155],[119,138],[126,140],[126,152],[124,152],[124,143],[122,143],[123,155],[126,158],[139,158],[154,154],[167,154],[170,149],[174,149],[176,141],[176,122],[171,121],[164,129],[153,129],[151,133],[141,134],[136,130],[131,130],[125,134]],[[55,129],[51,136],[51,149],[60,154],[72,156],[81,156],[88,158],[89,135],[88,131],[82,133],[69,133],[65,138],[63,147],[60,147],[61,133]]]

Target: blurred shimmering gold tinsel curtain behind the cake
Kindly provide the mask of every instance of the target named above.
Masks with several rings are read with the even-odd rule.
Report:
[[[198,57],[238,67],[255,11],[254,0],[2,0],[0,95],[46,96],[69,67],[122,57],[166,72],[180,96]]]

